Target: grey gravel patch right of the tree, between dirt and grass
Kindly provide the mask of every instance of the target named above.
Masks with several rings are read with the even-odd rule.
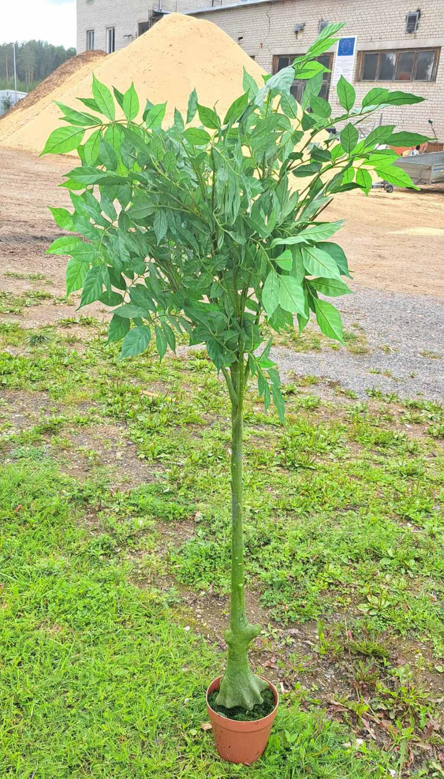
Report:
[[[344,330],[353,324],[361,326],[369,353],[350,354],[345,348],[332,351],[328,347],[301,353],[276,347],[271,356],[279,364],[283,380],[294,372],[340,382],[362,399],[368,397],[365,390],[375,387],[400,397],[420,395],[444,401],[442,299],[360,287],[336,302]],[[370,372],[375,370],[381,373]],[[390,375],[382,375],[384,372]]]

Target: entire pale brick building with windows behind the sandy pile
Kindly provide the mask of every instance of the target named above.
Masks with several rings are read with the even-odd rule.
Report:
[[[150,11],[147,5],[143,0],[77,0],[77,51],[87,48],[88,30],[93,30],[94,48],[111,51],[113,42],[122,48],[160,16],[177,10],[217,24],[263,69],[277,72],[305,53],[323,23],[345,22],[344,35],[357,36],[351,80],[358,99],[372,86],[420,94],[427,98],[424,104],[386,110],[384,121],[431,135],[432,118],[444,140],[444,0],[422,0],[419,9],[408,0],[163,0],[161,9]],[[333,47],[322,62],[334,71],[335,60]],[[327,74],[322,97],[334,107],[336,90],[330,82]],[[294,84],[297,99],[302,89]]]

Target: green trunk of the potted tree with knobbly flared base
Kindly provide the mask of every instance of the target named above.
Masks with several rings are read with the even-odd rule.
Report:
[[[236,402],[231,400],[231,617],[225,634],[228,644],[227,668],[220,682],[217,704],[231,709],[252,709],[262,703],[261,692],[267,684],[248,664],[248,644],[259,635],[260,626],[250,625],[245,615],[244,540],[242,529],[242,423],[245,390],[243,356],[231,368]]]

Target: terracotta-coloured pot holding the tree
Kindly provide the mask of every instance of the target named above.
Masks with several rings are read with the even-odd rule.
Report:
[[[271,714],[251,722],[229,720],[227,717],[221,717],[220,714],[213,711],[208,703],[210,693],[213,693],[215,689],[219,689],[220,679],[222,679],[221,676],[214,679],[206,690],[206,710],[213,728],[216,749],[222,760],[228,760],[230,763],[244,763],[249,766],[262,755],[266,748],[271,726],[277,713],[279,695],[277,694],[276,687],[266,679],[265,681],[270,685],[276,704]]]

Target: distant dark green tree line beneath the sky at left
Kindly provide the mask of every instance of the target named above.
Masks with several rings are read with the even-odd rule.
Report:
[[[14,55],[12,43],[0,45],[0,88],[14,86]],[[16,43],[17,87],[30,91],[46,76],[76,54],[75,48],[65,49],[48,41],[22,41]]]

